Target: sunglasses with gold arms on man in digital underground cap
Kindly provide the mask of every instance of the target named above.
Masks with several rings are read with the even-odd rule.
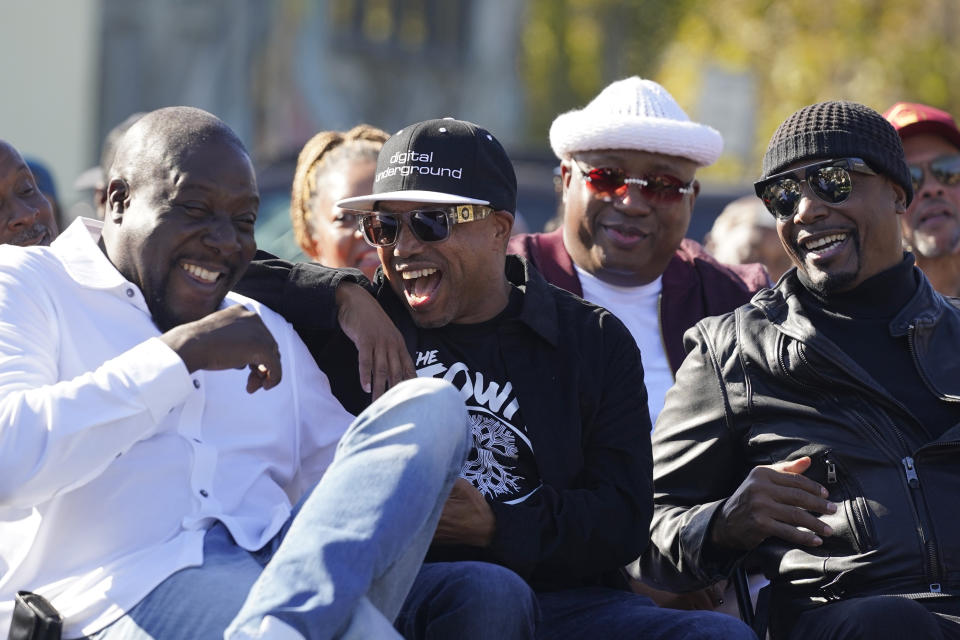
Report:
[[[414,209],[406,213],[362,212],[360,232],[367,244],[390,247],[396,244],[400,237],[401,219],[406,219],[410,231],[420,242],[442,242],[450,237],[451,226],[483,220],[492,212],[490,207],[472,204]]]

